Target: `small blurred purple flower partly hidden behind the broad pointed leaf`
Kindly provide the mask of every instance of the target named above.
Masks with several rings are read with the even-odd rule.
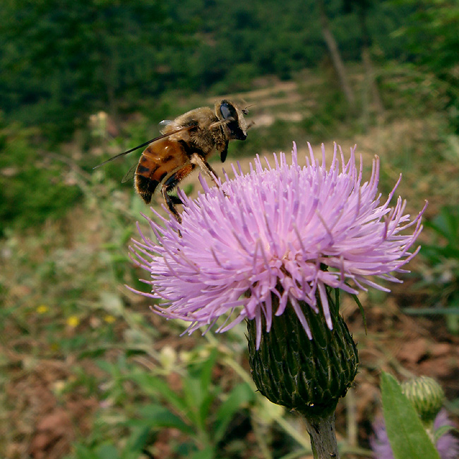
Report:
[[[443,426],[453,426],[448,418],[446,410],[440,410],[434,421],[434,431]],[[394,459],[391,444],[386,432],[386,425],[383,417],[377,417],[373,423],[374,435],[370,437],[370,446],[374,452],[375,459]],[[443,434],[436,442],[436,450],[441,459],[458,459],[459,440],[450,431]]]

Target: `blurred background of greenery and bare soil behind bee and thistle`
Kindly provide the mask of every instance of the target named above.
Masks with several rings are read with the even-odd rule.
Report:
[[[410,210],[429,200],[417,275],[361,299],[368,335],[343,305],[362,359],[344,457],[369,455],[381,368],[436,376],[457,416],[458,30],[452,0],[2,2],[0,457],[306,457],[297,419],[254,393],[244,327],[179,338],[123,287],[145,288],[128,257],[145,207],[120,183],[136,156],[92,170],[221,95],[253,104],[228,161],[357,142],[383,193],[403,172]]]

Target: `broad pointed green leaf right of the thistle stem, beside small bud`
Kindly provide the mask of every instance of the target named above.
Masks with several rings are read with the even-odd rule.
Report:
[[[395,459],[440,459],[415,408],[393,376],[381,374],[386,431]]]

